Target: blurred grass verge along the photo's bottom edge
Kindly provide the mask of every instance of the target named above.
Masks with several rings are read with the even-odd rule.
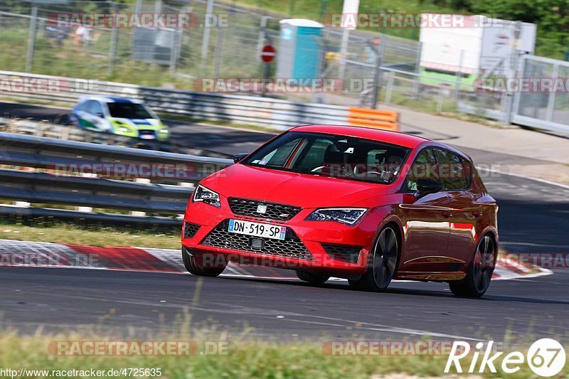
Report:
[[[328,338],[334,340],[334,338]],[[426,339],[426,338],[425,338]],[[191,356],[63,356],[48,352],[54,341],[192,341],[198,349]],[[376,340],[378,341],[378,340]],[[373,375],[409,373],[418,376],[444,374],[447,354],[337,356],[320,341],[282,343],[249,338],[247,333],[184,331],[149,334],[144,338],[110,336],[95,332],[43,333],[21,335],[15,331],[0,333],[0,367],[41,370],[105,370],[122,368],[160,368],[163,378],[371,378]],[[222,354],[205,353],[206,343],[223,349]],[[517,350],[517,349],[516,349]],[[472,355],[461,361],[467,369]],[[512,375],[496,374],[486,369],[484,377],[533,378],[527,364]],[[452,372],[449,374],[452,375]],[[557,378],[569,378],[567,368]],[[43,375],[23,375],[24,378]]]

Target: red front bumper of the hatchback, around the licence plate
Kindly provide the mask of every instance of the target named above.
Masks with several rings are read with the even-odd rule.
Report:
[[[370,210],[356,225],[344,225],[304,220],[312,211],[314,208],[304,208],[291,220],[276,221],[237,215],[230,210],[226,198],[221,198],[221,208],[190,201],[181,242],[193,254],[209,255],[210,262],[219,262],[219,257],[223,257],[225,262],[285,269],[314,269],[346,275],[363,273],[381,223],[380,215]],[[230,233],[230,219],[285,226],[287,234],[285,240],[280,241]],[[252,238],[262,240],[262,248],[252,247]]]

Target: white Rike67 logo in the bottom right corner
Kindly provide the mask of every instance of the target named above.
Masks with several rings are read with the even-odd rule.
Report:
[[[513,374],[520,370],[521,365],[527,364],[536,375],[550,377],[557,375],[565,367],[565,349],[551,338],[542,338],[532,343],[525,356],[520,351],[513,351],[504,356],[502,351],[496,353],[493,346],[494,341],[489,341],[485,348],[483,342],[476,344],[468,373],[484,373],[486,369],[496,373],[496,366],[499,365],[504,373]],[[460,360],[469,355],[470,349],[468,342],[454,341],[445,373],[449,373],[453,365],[457,373],[462,373]]]

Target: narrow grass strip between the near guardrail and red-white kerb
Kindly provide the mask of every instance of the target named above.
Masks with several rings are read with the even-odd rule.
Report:
[[[81,227],[65,223],[44,223],[39,226],[0,222],[0,239],[68,243],[92,246],[137,246],[179,249],[180,233],[171,230],[129,230],[110,227]]]

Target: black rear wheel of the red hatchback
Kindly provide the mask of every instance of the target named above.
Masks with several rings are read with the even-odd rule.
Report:
[[[449,282],[450,291],[459,297],[482,297],[494,272],[494,253],[496,244],[490,235],[484,235],[474,253],[467,270],[467,276],[456,282]],[[492,262],[491,265],[488,262]]]

